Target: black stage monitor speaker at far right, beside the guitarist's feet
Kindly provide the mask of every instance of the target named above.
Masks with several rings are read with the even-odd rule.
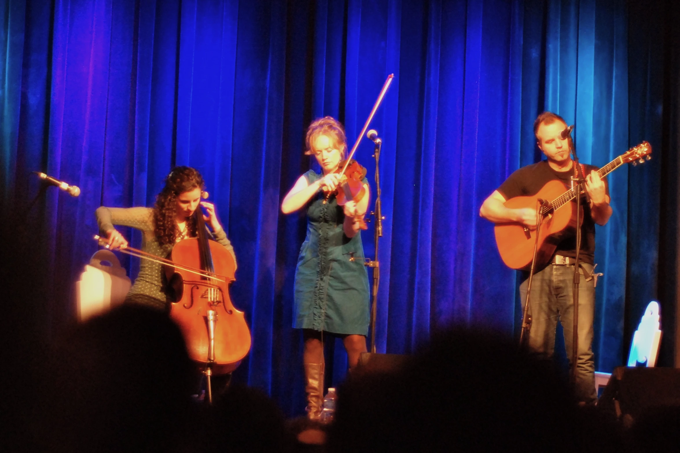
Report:
[[[641,414],[658,407],[680,407],[680,369],[616,367],[598,408],[630,426]]]

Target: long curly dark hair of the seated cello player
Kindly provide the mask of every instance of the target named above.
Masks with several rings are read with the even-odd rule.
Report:
[[[195,168],[177,166],[165,178],[165,187],[156,196],[154,205],[154,234],[160,245],[174,244],[177,240],[180,235],[180,229],[177,228],[177,222],[175,222],[177,196],[196,187],[200,187],[201,190],[205,189],[203,177]],[[189,228],[188,236],[196,236],[196,217],[191,217],[187,228]]]

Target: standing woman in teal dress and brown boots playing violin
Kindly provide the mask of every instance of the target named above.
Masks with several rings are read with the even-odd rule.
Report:
[[[338,206],[341,161],[347,153],[343,126],[323,117],[307,128],[307,151],[322,173],[309,170],[299,177],[281,205],[284,214],[305,209],[307,237],[300,249],[294,284],[294,324],[302,329],[307,415],[318,419],[324,386],[322,332],[343,339],[350,370],[366,352],[369,329],[369,279],[364,268],[360,221],[369,204],[365,196]]]

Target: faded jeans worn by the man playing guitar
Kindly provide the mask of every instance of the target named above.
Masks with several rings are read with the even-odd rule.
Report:
[[[593,403],[595,392],[595,363],[592,352],[593,319],[595,314],[594,280],[585,281],[583,269],[592,273],[592,264],[581,263],[579,268],[579,328],[578,355],[575,374],[575,394],[579,401]],[[520,285],[522,307],[526,299],[528,279]],[[574,266],[549,264],[547,268],[534,274],[531,283],[529,310],[532,316],[529,333],[529,348],[541,357],[551,359],[555,350],[555,331],[558,320],[564,331],[564,345],[569,365],[573,359],[573,301]]]

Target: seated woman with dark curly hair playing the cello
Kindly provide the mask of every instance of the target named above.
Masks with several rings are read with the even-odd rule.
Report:
[[[110,247],[126,247],[128,241],[114,228],[124,225],[141,230],[141,249],[158,257],[166,257],[176,242],[197,235],[196,218],[193,215],[199,205],[207,215],[203,219],[210,226],[214,239],[232,255],[234,249],[226,238],[215,211],[215,205],[201,201],[204,183],[201,174],[187,166],[175,167],[165,179],[165,187],[156,196],[153,208],[107,208],[97,209],[97,223],[101,236],[107,238]],[[236,257],[234,257],[236,261]],[[167,310],[166,291],[162,265],[148,259],[141,260],[135,284],[125,302],[135,302]]]

